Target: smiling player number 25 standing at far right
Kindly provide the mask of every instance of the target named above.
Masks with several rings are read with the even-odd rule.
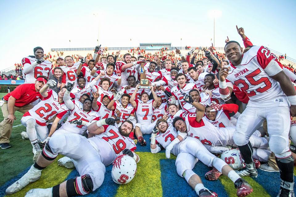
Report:
[[[258,175],[252,160],[253,149],[249,137],[266,118],[269,147],[276,156],[280,170],[278,196],[294,195],[294,158],[289,149],[289,129],[290,114],[292,117],[296,114],[295,89],[279,63],[273,60],[268,48],[253,46],[242,56],[240,44],[229,41],[224,50],[231,64],[219,72],[221,98],[230,97],[233,85],[247,92],[250,98],[237,120],[233,136],[246,163],[245,174],[252,177]]]

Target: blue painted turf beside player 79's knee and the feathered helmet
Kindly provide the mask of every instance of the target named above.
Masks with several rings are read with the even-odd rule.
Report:
[[[103,184],[96,190],[89,193],[87,196],[93,197],[110,197],[115,196],[119,185],[114,183],[111,176],[112,165],[106,167],[106,173]],[[80,176],[76,169],[74,169],[67,177],[67,179],[74,179],[75,177]],[[66,179],[66,180],[67,180]]]

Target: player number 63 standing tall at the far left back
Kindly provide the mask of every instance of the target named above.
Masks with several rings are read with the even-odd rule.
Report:
[[[44,51],[42,47],[34,48],[34,57],[25,57],[22,60],[23,65],[23,78],[25,84],[35,83],[38,76],[49,76],[52,69],[52,63],[48,60],[44,60]]]

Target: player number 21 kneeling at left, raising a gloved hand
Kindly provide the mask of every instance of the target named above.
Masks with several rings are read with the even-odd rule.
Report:
[[[66,87],[61,88],[61,90],[56,93],[52,89],[49,89],[50,86],[54,86],[55,84],[56,82],[54,80],[47,81],[47,83],[39,91],[39,93],[43,96],[42,101],[24,113],[21,119],[21,123],[26,127],[27,135],[33,146],[34,161],[36,161],[41,153],[37,138],[39,138],[40,141],[45,141],[49,136],[48,134],[52,134],[55,131],[60,119],[69,110],[63,100]],[[53,121],[51,130],[48,133],[46,123],[55,115],[55,120]]]

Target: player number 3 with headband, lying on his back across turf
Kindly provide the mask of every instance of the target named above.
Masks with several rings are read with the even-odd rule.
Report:
[[[177,173],[186,179],[187,183],[200,197],[217,195],[205,188],[199,176],[192,171],[198,160],[207,166],[216,167],[222,174],[228,176],[237,188],[237,196],[246,196],[253,192],[252,187],[244,179],[241,179],[222,159],[211,154],[198,139],[183,134],[180,135],[184,137],[184,140],[173,126],[169,127],[166,120],[159,119],[151,134],[150,151],[151,153],[158,153],[162,147],[166,149],[167,158],[170,158],[170,153],[177,156]],[[183,142],[178,143],[180,140],[183,140]],[[156,145],[156,141],[158,145]]]

